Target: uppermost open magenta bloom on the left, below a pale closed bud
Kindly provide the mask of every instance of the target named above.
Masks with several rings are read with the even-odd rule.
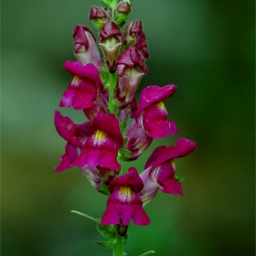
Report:
[[[64,91],[59,107],[73,107],[83,110],[95,106],[95,101],[103,91],[99,70],[92,64],[82,66],[78,61],[66,61],[67,69],[74,78],[69,82],[68,90]]]

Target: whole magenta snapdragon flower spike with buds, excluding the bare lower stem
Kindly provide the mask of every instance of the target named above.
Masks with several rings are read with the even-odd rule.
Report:
[[[122,161],[137,159],[154,138],[175,136],[179,131],[167,119],[164,103],[176,85],[147,86],[137,104],[135,93],[147,73],[144,62],[149,58],[142,22],[135,20],[122,31],[131,1],[102,3],[105,8],[92,6],[90,12],[98,40],[84,25],[73,31],[77,61],[64,64],[72,79],[59,107],[82,111],[88,121],[76,124],[56,112],[57,132],[67,141],[56,171],[78,166],[95,189],[109,196],[102,224],[128,226],[133,220],[135,225],[148,225],[144,205],[159,189],[183,195],[175,159],[190,154],[196,144],[179,138],[174,146],[157,147],[140,174],[135,167],[122,173]]]

